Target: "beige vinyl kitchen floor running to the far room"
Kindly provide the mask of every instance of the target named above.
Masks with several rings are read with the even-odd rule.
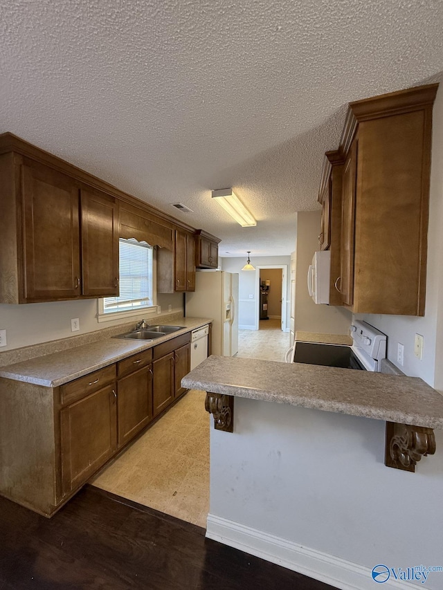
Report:
[[[280,320],[239,331],[244,358],[284,361],[289,333]],[[191,389],[118,459],[89,483],[206,528],[209,512],[209,429],[206,393]]]

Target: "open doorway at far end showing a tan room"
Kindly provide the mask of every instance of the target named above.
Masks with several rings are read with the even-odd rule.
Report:
[[[287,332],[287,266],[257,266],[258,302],[256,330],[280,329]]]

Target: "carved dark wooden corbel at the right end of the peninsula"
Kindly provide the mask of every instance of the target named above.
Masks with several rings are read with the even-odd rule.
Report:
[[[426,455],[435,453],[432,428],[386,422],[385,465],[415,472],[415,465]]]

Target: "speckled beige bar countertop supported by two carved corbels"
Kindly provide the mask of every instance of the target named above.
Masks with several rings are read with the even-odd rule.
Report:
[[[417,377],[210,356],[181,385],[443,430],[443,396]]]

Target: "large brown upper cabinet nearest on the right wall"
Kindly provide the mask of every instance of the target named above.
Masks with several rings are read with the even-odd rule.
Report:
[[[437,86],[350,104],[338,286],[354,313],[424,315]]]

